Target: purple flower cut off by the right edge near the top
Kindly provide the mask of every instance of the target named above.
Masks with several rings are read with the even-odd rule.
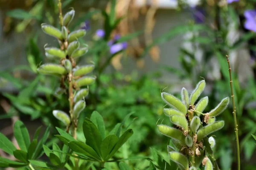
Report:
[[[244,28],[256,32],[256,10],[244,11],[245,23]]]

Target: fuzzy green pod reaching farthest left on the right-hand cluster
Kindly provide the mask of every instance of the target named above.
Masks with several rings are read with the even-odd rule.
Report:
[[[181,130],[177,130],[175,128],[166,126],[166,125],[157,125],[158,130],[160,131],[160,133],[162,133],[165,136],[168,136],[172,139],[176,139],[179,142],[181,142],[181,144],[185,145],[185,136],[183,135]]]

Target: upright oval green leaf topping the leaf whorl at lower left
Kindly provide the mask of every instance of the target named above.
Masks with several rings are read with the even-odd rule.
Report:
[[[14,124],[14,136],[20,149],[27,152],[30,144],[29,132],[20,120]]]

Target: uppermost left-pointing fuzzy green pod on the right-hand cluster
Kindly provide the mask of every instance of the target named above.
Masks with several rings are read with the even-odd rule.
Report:
[[[173,106],[174,108],[176,108],[181,113],[186,114],[186,112],[187,112],[186,106],[179,99],[177,99],[175,96],[173,96],[172,94],[165,93],[165,92],[161,93],[161,96],[162,96],[162,99],[167,104]]]

